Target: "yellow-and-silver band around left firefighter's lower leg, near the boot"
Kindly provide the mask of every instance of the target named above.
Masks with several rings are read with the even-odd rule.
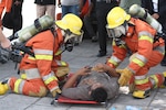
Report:
[[[17,94],[22,94],[24,82],[25,82],[24,80],[18,79],[14,82],[14,90],[13,91],[17,92]]]

